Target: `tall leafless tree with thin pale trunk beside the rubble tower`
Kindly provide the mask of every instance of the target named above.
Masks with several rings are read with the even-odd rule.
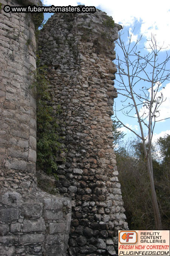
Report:
[[[142,56],[141,52],[138,51],[141,40],[142,36],[136,43],[132,43],[132,34],[128,33],[128,43],[126,44],[121,40],[121,33],[119,34],[117,45],[121,48],[124,57],[122,59],[117,58],[119,72],[117,73],[119,75],[117,74],[118,79],[116,81],[119,82],[117,92],[124,96],[124,99],[120,110],[116,110],[115,106],[115,117],[142,141],[150,178],[155,225],[157,230],[161,230],[162,223],[153,180],[151,141],[156,122],[162,121],[160,120],[160,105],[166,99],[164,99],[160,90],[164,88],[162,84],[170,80],[170,69],[167,68],[170,56],[166,53],[164,61],[158,61],[159,53],[164,48],[158,47],[153,34],[151,40],[148,40],[149,47],[144,47],[147,54]],[[140,128],[139,134],[119,119],[118,111],[128,117],[137,119]],[[146,143],[148,146],[146,146]]]

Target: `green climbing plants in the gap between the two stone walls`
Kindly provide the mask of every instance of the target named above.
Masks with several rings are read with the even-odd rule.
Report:
[[[37,59],[39,62],[39,58]],[[38,67],[32,74],[34,76],[32,90],[36,95],[37,103],[37,166],[47,174],[56,174],[57,154],[62,148],[57,120],[61,109],[58,106],[54,113],[53,101],[48,91],[46,66]]]

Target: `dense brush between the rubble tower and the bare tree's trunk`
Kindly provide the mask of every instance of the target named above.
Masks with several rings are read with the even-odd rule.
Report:
[[[149,225],[153,227],[154,221],[150,221],[153,213],[149,207],[151,198],[145,189],[149,186],[147,170],[125,148],[116,152],[116,161],[129,228],[142,230]]]

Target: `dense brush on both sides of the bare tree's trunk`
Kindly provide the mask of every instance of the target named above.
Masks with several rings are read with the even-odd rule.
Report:
[[[116,151],[116,161],[128,227],[131,230],[154,230],[150,182],[140,141],[122,143]],[[152,164],[162,226],[167,230],[170,225],[170,165],[155,159]]]

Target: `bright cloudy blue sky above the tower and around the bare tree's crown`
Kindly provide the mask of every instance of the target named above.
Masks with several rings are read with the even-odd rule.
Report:
[[[77,4],[84,4],[86,6],[95,6],[96,8],[105,11],[109,16],[113,17],[115,23],[119,23],[124,26],[124,35],[122,39],[127,42],[127,31],[132,33],[132,40],[136,39],[142,34],[142,45],[148,47],[148,41],[151,37],[151,33],[156,35],[157,44],[163,46],[165,49],[160,52],[161,60],[165,57],[165,51],[170,55],[170,1],[162,0],[156,3],[154,0],[143,0],[142,4],[138,5],[136,0],[43,0],[45,6],[77,6]],[[45,19],[48,19],[51,14],[45,14]],[[116,53],[121,57],[121,52],[118,47],[115,48]],[[141,50],[141,54],[146,53],[146,50]],[[116,63],[116,60],[114,61]],[[169,64],[170,68],[170,64]],[[117,76],[116,76],[117,78]],[[119,87],[119,84],[115,81],[115,87]],[[164,87],[164,88],[163,88]],[[170,117],[170,81],[166,81],[160,88],[165,102],[160,106],[160,119]],[[116,102],[116,109],[121,108],[121,97],[118,96],[114,100]],[[142,110],[141,110],[142,111]],[[117,113],[118,115],[118,113]],[[135,115],[135,113],[133,114]],[[136,133],[139,133],[139,126],[135,118],[127,118],[121,115],[119,112],[119,119],[123,119],[127,127],[134,129]],[[122,127],[127,135],[126,138],[133,136],[133,134],[125,127]],[[170,134],[170,119],[162,120],[156,123],[153,141],[156,141],[160,136],[164,137],[165,134]]]

